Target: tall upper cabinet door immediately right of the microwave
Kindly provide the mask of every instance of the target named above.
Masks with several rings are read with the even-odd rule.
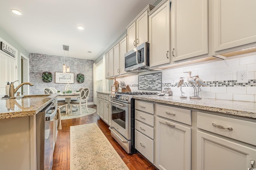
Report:
[[[170,2],[149,16],[150,67],[170,63]]]

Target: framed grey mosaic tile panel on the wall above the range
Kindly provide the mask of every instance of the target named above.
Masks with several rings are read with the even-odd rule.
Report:
[[[138,90],[162,90],[162,72],[138,76]]]

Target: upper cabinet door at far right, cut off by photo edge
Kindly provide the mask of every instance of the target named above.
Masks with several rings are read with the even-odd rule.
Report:
[[[255,0],[214,0],[214,51],[256,42]]]

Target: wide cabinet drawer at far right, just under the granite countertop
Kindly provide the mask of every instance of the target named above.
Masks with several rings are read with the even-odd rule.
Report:
[[[197,112],[197,127],[256,146],[254,122]]]

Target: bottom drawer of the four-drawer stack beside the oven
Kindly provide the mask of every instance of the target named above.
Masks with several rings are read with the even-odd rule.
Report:
[[[135,130],[135,149],[154,163],[154,141]]]

